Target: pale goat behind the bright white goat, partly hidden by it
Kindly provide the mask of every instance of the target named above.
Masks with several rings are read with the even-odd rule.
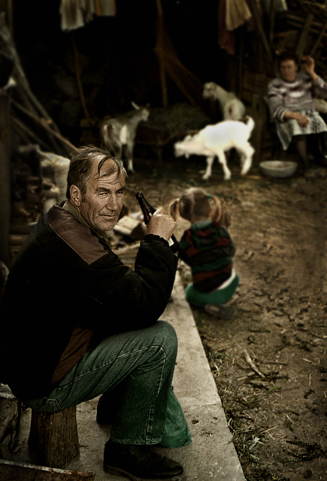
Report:
[[[245,116],[245,105],[232,92],[227,92],[214,82],[207,82],[203,87],[204,98],[216,98],[221,105],[223,120],[240,120]]]

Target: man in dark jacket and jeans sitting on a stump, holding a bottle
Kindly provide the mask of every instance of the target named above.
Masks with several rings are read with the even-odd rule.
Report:
[[[0,379],[40,411],[106,393],[98,418],[112,416],[111,398],[116,407],[104,467],[131,479],[179,480],[181,464],[151,449],[164,431],[177,356],[172,325],[157,321],[174,284],[168,239],[177,224],[159,209],[144,225],[135,270],[124,266],[106,232],[120,215],[125,181],[122,163],[102,149],[83,147],[71,159],[67,201],[41,218],[10,270]]]

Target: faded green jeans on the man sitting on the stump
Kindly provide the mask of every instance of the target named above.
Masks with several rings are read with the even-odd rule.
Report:
[[[114,334],[87,351],[49,397],[24,403],[39,411],[59,411],[113,389],[120,402],[111,438],[154,445],[164,432],[176,356],[177,335],[166,321]]]

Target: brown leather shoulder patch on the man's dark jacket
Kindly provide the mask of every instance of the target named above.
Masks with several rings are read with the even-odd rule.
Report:
[[[106,250],[97,237],[91,234],[90,229],[80,224],[74,215],[60,206],[55,205],[49,210],[48,222],[56,235],[75,250],[87,264],[92,264],[106,255]]]

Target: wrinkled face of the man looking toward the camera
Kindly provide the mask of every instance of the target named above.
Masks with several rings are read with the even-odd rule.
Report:
[[[100,159],[93,161],[87,193],[80,204],[80,215],[94,231],[111,231],[118,220],[124,203],[126,182],[124,174],[119,173],[114,162],[107,160],[98,175]]]

